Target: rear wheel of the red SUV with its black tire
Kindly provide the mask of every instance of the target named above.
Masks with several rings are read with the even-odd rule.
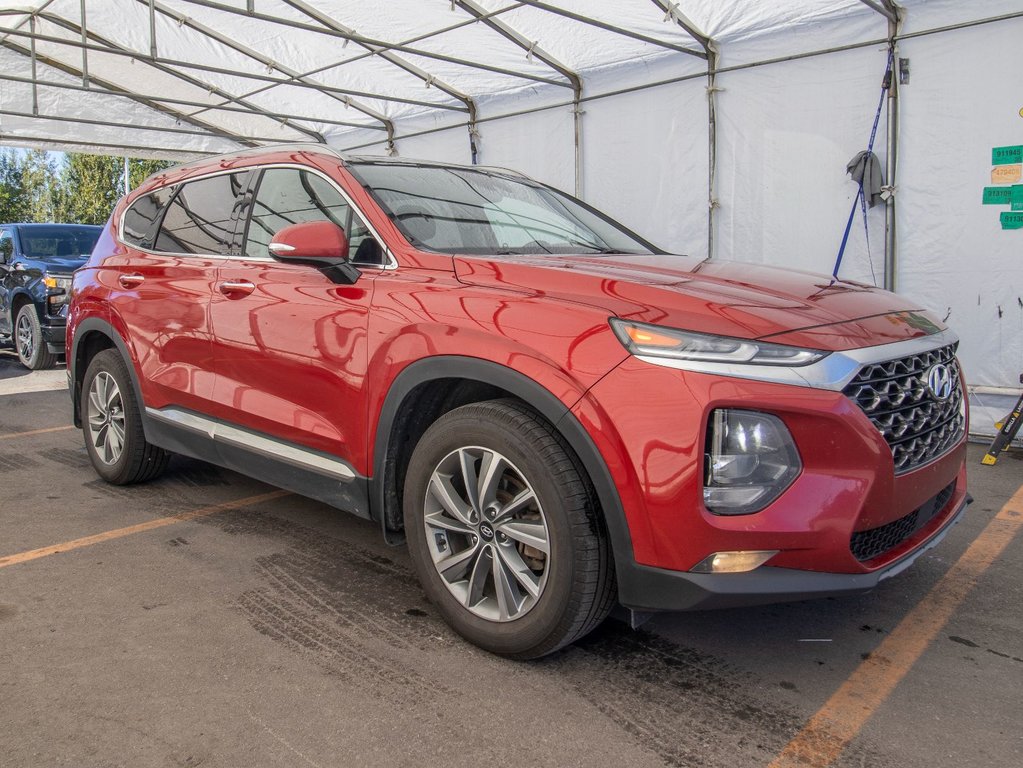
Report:
[[[146,442],[128,367],[117,350],[103,350],[82,381],[82,434],[96,473],[118,486],[163,473],[170,454]]]

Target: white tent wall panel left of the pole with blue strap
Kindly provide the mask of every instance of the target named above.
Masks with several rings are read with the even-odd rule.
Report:
[[[724,73],[717,83],[715,256],[830,274],[857,185],[846,164],[865,149],[887,48]],[[885,155],[884,116],[874,150]],[[853,219],[842,277],[881,284],[884,206]]]

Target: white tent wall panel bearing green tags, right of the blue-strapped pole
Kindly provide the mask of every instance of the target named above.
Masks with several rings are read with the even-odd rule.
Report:
[[[1015,387],[1023,372],[1023,230],[1009,206],[982,205],[991,150],[1023,144],[1023,19],[906,40],[898,165],[899,292],[963,337],[974,386]]]

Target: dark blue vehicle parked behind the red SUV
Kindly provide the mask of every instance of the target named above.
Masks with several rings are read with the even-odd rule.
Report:
[[[0,224],[0,343],[33,370],[64,351],[72,273],[99,239],[84,224]]]

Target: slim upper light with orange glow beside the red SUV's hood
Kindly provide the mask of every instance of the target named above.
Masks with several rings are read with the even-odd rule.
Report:
[[[611,318],[611,327],[625,349],[638,357],[664,357],[705,363],[741,365],[809,365],[827,352],[787,347],[748,338],[714,336],[660,325]]]

